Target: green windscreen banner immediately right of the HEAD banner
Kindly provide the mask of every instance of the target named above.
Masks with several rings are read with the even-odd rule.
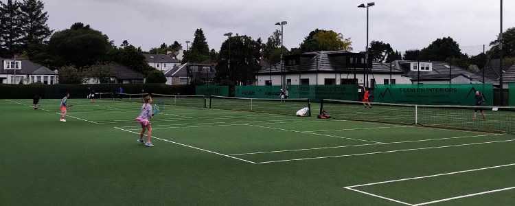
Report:
[[[309,98],[310,100],[358,100],[358,85],[291,85],[288,98]]]

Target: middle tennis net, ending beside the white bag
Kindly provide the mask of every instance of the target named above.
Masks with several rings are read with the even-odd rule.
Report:
[[[218,108],[234,111],[251,111],[257,113],[273,113],[280,115],[295,115],[301,108],[308,107],[311,116],[309,99],[254,99],[231,98],[211,95],[209,108]]]

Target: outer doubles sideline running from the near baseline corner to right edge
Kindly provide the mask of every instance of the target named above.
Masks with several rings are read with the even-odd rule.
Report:
[[[439,148],[453,148],[453,147],[459,147],[459,146],[471,146],[471,145],[479,145],[479,144],[493,144],[493,143],[508,142],[508,141],[515,141],[515,139],[501,140],[501,141],[486,141],[486,142],[471,143],[471,144],[457,144],[457,145],[438,146],[438,147],[429,147],[429,148],[413,148],[413,149],[406,149],[406,150],[389,150],[389,151],[382,151],[382,152],[367,152],[367,153],[352,154],[352,155],[335,155],[335,156],[325,156],[325,157],[308,157],[308,158],[299,158],[299,159],[283,159],[283,160],[276,160],[276,161],[262,161],[262,162],[258,162],[257,164],[277,163],[277,162],[285,162],[285,161],[302,161],[302,160],[309,160],[309,159],[327,159],[327,158],[335,158],[335,157],[354,157],[354,156],[363,156],[363,155],[377,155],[377,154],[393,153],[393,152],[407,152],[407,151],[415,151],[415,150],[431,150],[431,149],[439,149]]]

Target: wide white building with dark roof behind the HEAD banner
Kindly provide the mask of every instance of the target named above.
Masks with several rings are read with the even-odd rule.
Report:
[[[306,52],[284,56],[284,71],[280,64],[256,73],[256,85],[324,85],[411,84],[400,69],[381,62],[371,62],[368,71],[365,54],[347,51]],[[284,74],[284,75],[282,75]],[[283,78],[282,78],[283,76]]]

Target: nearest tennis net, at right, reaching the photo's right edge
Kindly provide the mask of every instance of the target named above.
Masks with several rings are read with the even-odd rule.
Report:
[[[387,104],[345,100],[322,100],[320,108],[335,119],[472,130],[490,133],[515,133],[515,107],[510,106],[446,106]],[[477,119],[473,119],[477,109]],[[485,113],[483,119],[480,111]]]

